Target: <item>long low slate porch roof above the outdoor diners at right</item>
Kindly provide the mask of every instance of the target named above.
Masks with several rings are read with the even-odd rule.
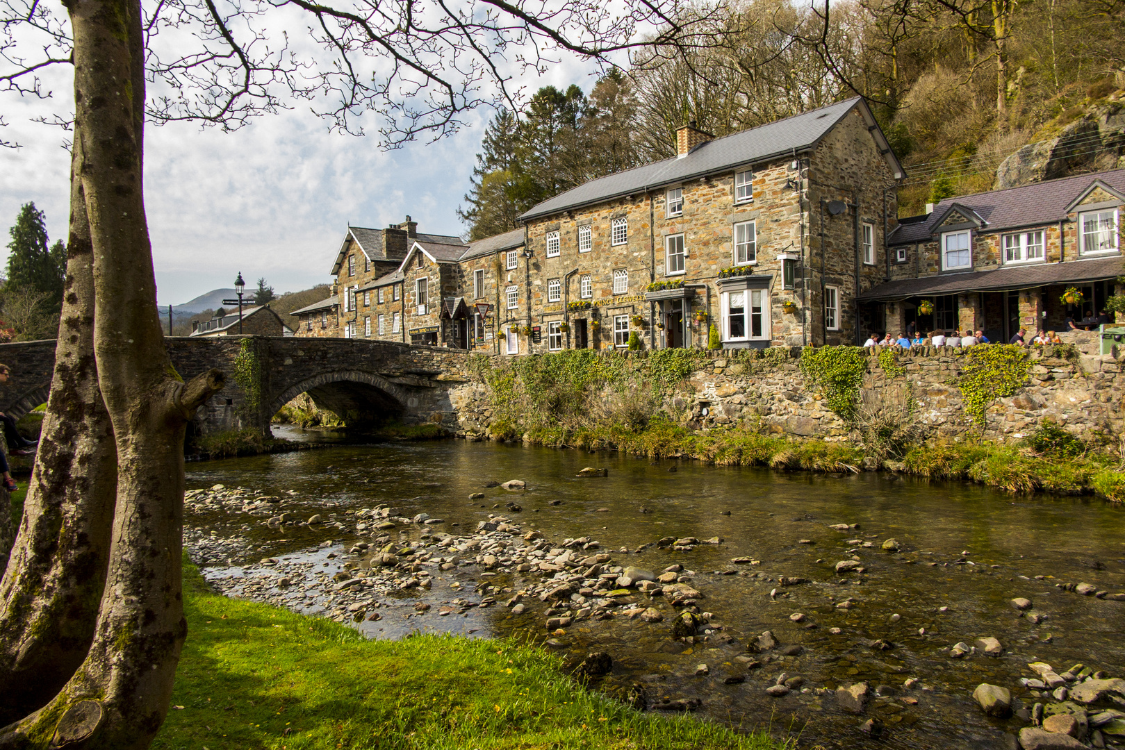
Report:
[[[1066,263],[1001,266],[971,273],[944,273],[920,279],[886,281],[860,293],[860,299],[883,301],[918,295],[953,295],[962,291],[1000,291],[1033,289],[1052,283],[1071,283],[1114,279],[1125,273],[1125,257],[1098,257]]]

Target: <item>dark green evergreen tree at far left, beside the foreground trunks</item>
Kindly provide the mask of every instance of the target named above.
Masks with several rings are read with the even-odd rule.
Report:
[[[44,295],[46,313],[57,313],[63,301],[66,277],[66,247],[58,241],[47,247],[47,227],[43,211],[34,202],[25,204],[8,234],[8,290],[34,290]]]

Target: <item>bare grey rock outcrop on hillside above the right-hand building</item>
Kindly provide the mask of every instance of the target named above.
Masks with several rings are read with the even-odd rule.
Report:
[[[1120,168],[1125,168],[1125,102],[1114,101],[1083,115],[1058,136],[1008,156],[996,170],[996,188]]]

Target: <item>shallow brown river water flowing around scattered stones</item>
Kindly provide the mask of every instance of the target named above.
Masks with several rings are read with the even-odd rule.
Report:
[[[609,476],[577,478],[584,467],[605,468]],[[526,490],[485,487],[510,479],[525,481]],[[699,698],[703,715],[744,728],[768,725],[778,737],[796,738],[799,747],[874,744],[860,731],[867,717],[884,722],[878,744],[886,747],[1009,747],[1011,733],[1027,723],[986,716],[971,698],[978,684],[1009,687],[1030,707],[1044,698],[1019,685],[1022,677],[1035,677],[1028,662],[1046,661],[1060,672],[1082,662],[1125,676],[1125,602],[1055,586],[1088,582],[1110,594],[1125,591],[1125,509],[1100,500],[1014,497],[886,473],[790,473],[461,441],[345,444],[188,467],[189,489],[216,484],[284,496],[284,509],[302,518],[313,513],[343,518],[348,509],[390,505],[398,516],[426,513],[444,519],[435,526],[400,524],[390,532],[395,539],[417,540],[435,531],[468,535],[489,514],[503,514],[552,541],[597,540],[615,564],[659,572],[680,563],[692,573],[685,580],[706,597],[700,608],[721,626],[706,641],[673,640],[670,605],[638,595],[642,606],[663,608],[669,617],[578,622],[557,639],[557,648],[573,659],[609,652],[614,669],[596,683],[602,689],[640,683],[654,697]],[[474,493],[485,497],[469,500]],[[506,510],[511,500],[522,512]],[[189,508],[189,528],[246,540],[224,559],[204,555],[208,578],[244,576],[270,555],[336,570],[346,558],[340,553],[358,539],[323,525],[270,528],[260,518],[249,527],[246,522],[222,510]],[[835,524],[858,527],[836,531]],[[651,546],[633,552],[666,536],[723,541],[690,551]],[[886,539],[897,540],[900,551],[883,551]],[[326,540],[333,545],[322,546]],[[732,562],[740,557],[760,562]],[[862,575],[836,572],[838,561],[854,558],[863,563]],[[506,589],[519,591],[525,579],[540,582],[541,575],[498,572],[483,579],[480,572],[476,567],[435,572],[431,589],[399,595],[402,612],[357,626],[376,638],[412,630],[549,636],[542,616],[547,605],[531,600],[522,615],[502,606]],[[781,586],[783,576],[810,582]],[[436,614],[438,605],[471,595],[482,580],[495,587],[495,606]],[[451,589],[456,581],[461,588]],[[299,591],[278,596],[302,612],[323,607]],[[1029,612],[1038,617],[1015,609],[1014,597],[1030,599]],[[433,609],[423,615],[406,606],[420,599],[432,602]],[[837,606],[846,600],[850,608]],[[804,618],[793,622],[794,613]],[[782,647],[800,644],[803,651],[795,657],[748,651],[763,631]],[[1000,641],[1002,656],[950,657],[955,643],[986,636]],[[891,648],[873,648],[879,640]],[[747,656],[762,666],[747,669]],[[709,672],[698,676],[703,663]],[[765,688],[782,672],[803,677],[808,689],[771,697]],[[727,684],[731,676],[745,681]],[[918,683],[903,687],[908,678]],[[861,680],[880,692],[865,715],[844,712],[834,693],[818,689]]]

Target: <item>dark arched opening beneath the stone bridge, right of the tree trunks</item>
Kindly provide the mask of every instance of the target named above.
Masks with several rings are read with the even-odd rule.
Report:
[[[372,372],[332,370],[305,378],[282,390],[270,400],[269,413],[277,414],[302,394],[308,394],[317,406],[341,416],[359,414],[380,421],[399,418],[408,398],[402,387]]]

